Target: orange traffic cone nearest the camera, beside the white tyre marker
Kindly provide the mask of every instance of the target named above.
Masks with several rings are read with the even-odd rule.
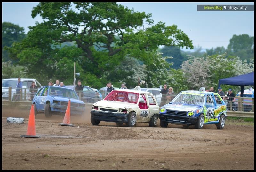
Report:
[[[28,117],[28,129],[27,135],[21,135],[20,137],[32,137],[32,138],[40,138],[40,136],[36,136],[36,124],[35,124],[35,104],[31,105],[30,114]]]

